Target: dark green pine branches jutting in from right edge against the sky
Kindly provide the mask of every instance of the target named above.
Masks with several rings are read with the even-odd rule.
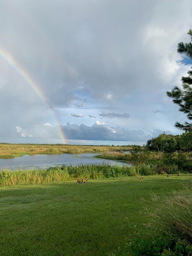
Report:
[[[192,30],[187,33],[190,35],[192,42]],[[192,59],[192,43],[180,42],[177,45],[177,52],[182,53],[188,58]],[[192,67],[191,67],[192,69]],[[173,98],[173,103],[179,105],[179,111],[186,114],[187,119],[192,120],[192,70],[189,70],[187,77],[182,77],[182,88],[175,86],[171,91],[167,91],[167,96]],[[175,127],[184,131],[192,131],[192,123],[184,122],[180,124],[175,123]]]

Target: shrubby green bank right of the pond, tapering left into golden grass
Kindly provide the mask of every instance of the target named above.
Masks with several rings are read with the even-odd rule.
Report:
[[[154,175],[163,173],[192,173],[192,154],[140,152],[124,154],[110,152],[96,155],[97,158],[122,160],[133,165],[136,173]]]

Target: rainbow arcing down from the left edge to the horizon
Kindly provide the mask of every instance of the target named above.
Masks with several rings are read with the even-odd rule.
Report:
[[[37,83],[35,83],[32,78],[29,76],[29,74],[21,67],[21,65],[19,65],[19,63],[9,54],[7,53],[5,50],[3,50],[2,48],[0,48],[0,56],[10,65],[12,66],[17,73],[19,73],[19,75],[26,81],[26,83],[33,89],[33,91],[38,95],[38,97],[41,99],[42,103],[44,104],[44,106],[49,110],[49,112],[51,113],[53,119],[55,120],[56,123],[56,127],[58,128],[59,134],[61,136],[61,139],[63,141],[64,144],[67,144],[66,142],[66,138],[64,136],[64,133],[61,129],[61,124],[59,123],[57,117],[55,116],[55,113],[53,111],[53,109],[49,106],[49,104],[47,103],[47,101],[45,100],[45,95],[42,92],[41,88],[39,87],[39,85]]]

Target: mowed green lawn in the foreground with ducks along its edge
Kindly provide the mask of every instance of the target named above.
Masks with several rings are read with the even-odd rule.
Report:
[[[0,188],[0,255],[106,255],[147,223],[141,198],[171,196],[191,174]]]

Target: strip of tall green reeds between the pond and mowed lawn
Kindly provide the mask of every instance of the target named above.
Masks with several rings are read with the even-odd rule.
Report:
[[[79,166],[57,166],[47,170],[26,170],[26,171],[0,171],[0,186],[7,185],[28,185],[50,182],[61,182],[82,179],[109,178],[119,176],[135,176],[133,167],[102,165],[79,165]]]

